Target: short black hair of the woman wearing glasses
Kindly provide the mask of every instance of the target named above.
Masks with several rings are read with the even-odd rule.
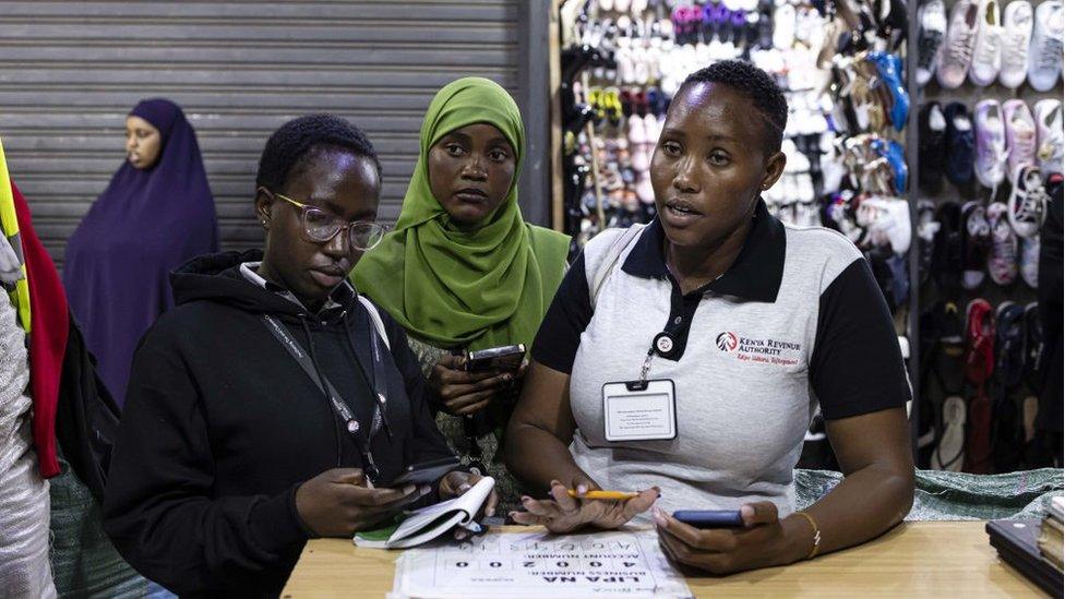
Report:
[[[255,185],[272,191],[285,189],[288,181],[307,167],[314,152],[338,148],[373,161],[381,176],[381,160],[366,133],[336,115],[308,115],[280,125],[266,140],[259,159]]]

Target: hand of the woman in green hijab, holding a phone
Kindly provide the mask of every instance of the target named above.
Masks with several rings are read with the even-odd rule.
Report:
[[[467,372],[463,370],[465,361],[462,356],[445,354],[440,357],[429,376],[429,385],[440,395],[444,411],[452,416],[469,416],[481,411],[525,372],[524,364],[517,371]]]

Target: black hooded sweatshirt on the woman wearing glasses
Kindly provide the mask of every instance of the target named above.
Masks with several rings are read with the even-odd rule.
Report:
[[[262,315],[279,320],[356,418],[369,422],[369,314],[347,285],[333,293],[338,307],[309,314],[247,280],[240,263],[261,255],[214,254],[175,272],[178,306],[145,334],[133,359],[105,528],[133,567],[181,596],[279,594],[310,536],[296,512],[296,488],[330,468],[362,467],[328,399]],[[392,347],[392,434],[381,431],[371,447],[388,479],[405,464],[451,451],[403,330],[379,312]]]

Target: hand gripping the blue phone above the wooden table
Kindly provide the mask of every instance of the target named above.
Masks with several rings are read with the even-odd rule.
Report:
[[[701,530],[656,507],[658,543],[673,562],[711,574],[790,564],[813,547],[813,529],[805,522],[780,520],[768,501],[746,504],[740,514],[743,528]]]

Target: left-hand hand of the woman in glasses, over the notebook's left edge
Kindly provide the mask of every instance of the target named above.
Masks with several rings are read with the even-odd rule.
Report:
[[[320,537],[372,529],[429,493],[428,484],[374,489],[358,468],[334,468],[296,489],[296,512]]]

